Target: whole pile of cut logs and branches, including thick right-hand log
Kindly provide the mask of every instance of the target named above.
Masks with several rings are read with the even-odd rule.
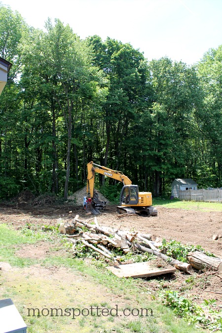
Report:
[[[94,220],[94,224],[89,224]],[[88,231],[85,231],[88,230]],[[67,240],[74,244],[82,243],[82,247],[88,247],[98,252],[100,255],[110,259],[114,264],[118,264],[120,256],[116,256],[112,249],[119,249],[124,254],[129,252],[141,252],[155,255],[167,261],[177,269],[186,273],[192,273],[192,267],[198,270],[212,269],[222,272],[222,259],[206,256],[200,251],[189,253],[187,259],[189,263],[181,262],[161,253],[158,249],[161,243],[155,235],[141,234],[139,232],[120,231],[111,227],[99,225],[97,218],[82,221],[79,215],[74,220],[61,223],[59,232],[67,237]],[[95,246],[96,245],[96,246]],[[74,251],[76,253],[76,251]]]

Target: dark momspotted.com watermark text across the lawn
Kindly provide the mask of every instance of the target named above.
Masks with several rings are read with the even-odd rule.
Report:
[[[28,317],[70,317],[75,319],[79,316],[82,317],[153,317],[151,308],[118,308],[118,305],[111,309],[99,306],[90,306],[88,308],[28,308]]]

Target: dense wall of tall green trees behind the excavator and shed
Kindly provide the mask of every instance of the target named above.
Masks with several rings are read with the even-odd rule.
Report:
[[[222,186],[222,45],[193,66],[148,62],[59,19],[34,29],[0,3],[0,57],[12,63],[0,95],[0,198],[29,189],[66,199],[86,184],[89,161],[157,197],[175,178]]]

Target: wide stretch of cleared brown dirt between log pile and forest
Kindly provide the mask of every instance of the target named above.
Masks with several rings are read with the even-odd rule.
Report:
[[[174,239],[183,244],[201,245],[206,251],[222,257],[222,238],[212,240],[214,234],[222,234],[222,211],[203,212],[156,207],[158,216],[146,218],[118,215],[115,213],[115,206],[109,205],[106,211],[97,216],[97,220],[100,224],[120,230],[138,230],[155,234],[167,241]],[[0,222],[10,223],[18,229],[27,223],[58,225],[58,219],[65,222],[74,219],[76,214],[85,221],[92,218],[85,213],[82,206],[72,204],[47,207],[0,205]]]

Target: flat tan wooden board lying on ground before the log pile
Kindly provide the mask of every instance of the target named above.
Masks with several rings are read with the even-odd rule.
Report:
[[[107,267],[114,275],[119,278],[142,278],[149,276],[162,275],[167,273],[175,273],[176,268],[159,269],[152,267],[148,262],[136,262],[126,265],[114,265]]]

